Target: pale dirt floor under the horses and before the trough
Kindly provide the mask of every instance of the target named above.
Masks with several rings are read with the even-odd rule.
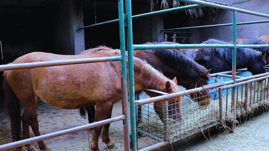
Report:
[[[122,114],[122,103],[116,103],[113,117]],[[269,148],[269,113],[255,115],[237,124],[234,133],[212,130],[194,137],[180,140],[179,142],[159,148],[157,150],[268,150]],[[87,124],[88,120],[80,117],[78,110],[61,110],[45,103],[40,103],[38,108],[38,121],[41,134],[47,134]],[[9,120],[2,104],[0,107],[0,145],[12,142]],[[33,133],[31,132],[31,136]],[[116,148],[123,150],[122,121],[112,123],[110,136],[116,142]],[[88,133],[80,131],[44,141],[51,150],[89,150]],[[138,148],[154,143],[150,138],[138,138]],[[36,144],[34,144],[37,146]],[[109,150],[99,141],[101,150]]]

